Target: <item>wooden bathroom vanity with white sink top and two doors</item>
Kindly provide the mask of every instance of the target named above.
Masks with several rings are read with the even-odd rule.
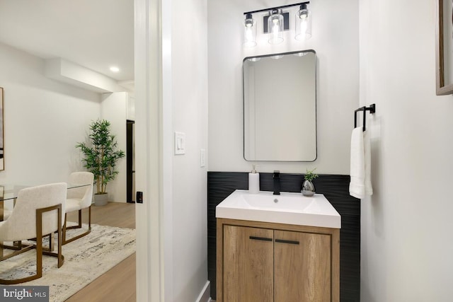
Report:
[[[340,215],[322,194],[236,190],[216,217],[217,301],[340,301]]]

